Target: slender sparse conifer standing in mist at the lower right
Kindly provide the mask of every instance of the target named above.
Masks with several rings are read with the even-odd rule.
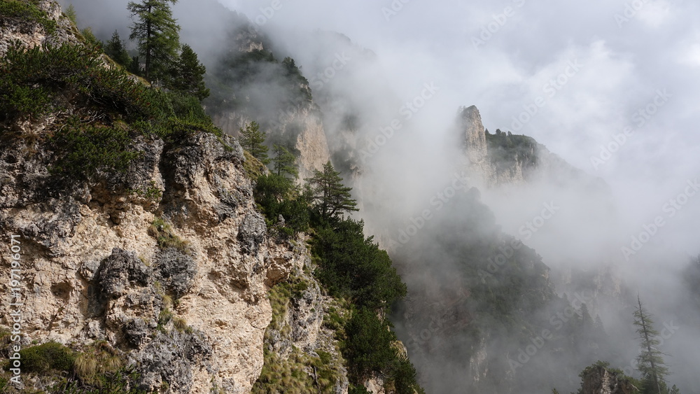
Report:
[[[659,332],[654,330],[654,321],[644,309],[637,296],[638,308],[634,311],[634,325],[637,327],[641,343],[641,351],[637,356],[637,369],[642,374],[644,394],[663,394],[661,388],[666,388],[664,378],[668,375],[668,367],[664,363],[664,353],[659,350]]]

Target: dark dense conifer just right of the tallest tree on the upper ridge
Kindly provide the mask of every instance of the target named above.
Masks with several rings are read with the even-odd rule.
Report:
[[[207,68],[200,63],[195,51],[190,45],[182,45],[180,56],[170,72],[168,88],[190,94],[202,101],[209,97],[209,89],[204,85],[205,73]]]

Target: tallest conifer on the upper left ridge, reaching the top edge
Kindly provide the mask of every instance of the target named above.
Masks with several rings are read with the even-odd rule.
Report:
[[[149,81],[167,77],[178,57],[180,27],[168,3],[177,0],[130,1],[127,6],[132,18],[137,18],[129,39],[139,43],[139,52],[146,60],[144,77]]]

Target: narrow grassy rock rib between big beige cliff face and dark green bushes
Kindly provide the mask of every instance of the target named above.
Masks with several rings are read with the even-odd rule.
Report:
[[[306,256],[294,260],[290,279],[270,293],[272,323],[265,332],[265,368],[253,393],[316,392],[347,394],[349,380],[332,314],[346,314],[332,297],[324,295],[312,272],[312,262],[300,237],[294,252]],[[279,381],[286,376],[297,379]]]

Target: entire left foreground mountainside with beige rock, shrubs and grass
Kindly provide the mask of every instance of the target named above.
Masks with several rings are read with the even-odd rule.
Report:
[[[195,97],[83,45],[52,1],[3,4],[0,27],[26,33],[0,59],[0,231],[17,249],[2,256],[3,390],[422,392],[388,323],[321,286],[309,237],[268,230],[253,181],[267,170]],[[353,229],[352,247],[386,257]],[[346,360],[361,313],[384,333],[384,364]]]

